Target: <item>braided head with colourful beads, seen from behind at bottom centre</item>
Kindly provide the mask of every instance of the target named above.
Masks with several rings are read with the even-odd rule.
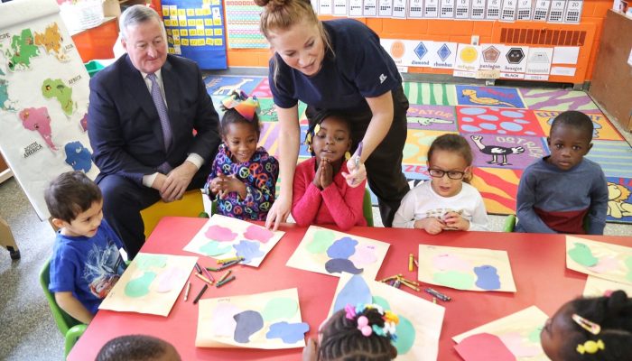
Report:
[[[302,360],[393,360],[397,356],[392,344],[397,323],[397,315],[379,305],[347,305],[322,323],[318,342],[308,340]]]

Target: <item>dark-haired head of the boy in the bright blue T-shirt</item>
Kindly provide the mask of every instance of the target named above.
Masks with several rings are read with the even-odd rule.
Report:
[[[52,224],[65,236],[94,236],[103,218],[98,185],[81,171],[67,171],[44,192]]]

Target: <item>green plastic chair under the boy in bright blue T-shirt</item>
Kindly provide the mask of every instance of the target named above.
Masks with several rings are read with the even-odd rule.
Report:
[[[72,347],[75,346],[77,340],[88,328],[88,325],[79,322],[77,319],[73,319],[68,313],[66,313],[66,311],[61,310],[57,301],[55,301],[55,296],[48,289],[48,285],[51,282],[50,272],[51,260],[49,259],[43,265],[42,271],[40,271],[40,284],[42,285],[44,296],[46,296],[46,301],[48,301],[48,305],[51,307],[52,318],[55,319],[57,328],[60,329],[61,335],[66,340],[64,355],[68,356]]]

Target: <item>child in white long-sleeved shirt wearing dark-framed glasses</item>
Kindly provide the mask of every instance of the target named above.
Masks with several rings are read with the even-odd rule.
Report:
[[[395,213],[393,227],[488,231],[488,214],[479,190],[469,185],[472,152],[459,134],[437,137],[428,150],[431,181],[410,190]]]

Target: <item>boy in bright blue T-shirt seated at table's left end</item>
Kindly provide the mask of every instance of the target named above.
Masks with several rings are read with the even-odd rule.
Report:
[[[125,271],[121,240],[103,219],[98,185],[81,171],[61,173],[44,193],[58,227],[49,290],[62,310],[89,323]]]

